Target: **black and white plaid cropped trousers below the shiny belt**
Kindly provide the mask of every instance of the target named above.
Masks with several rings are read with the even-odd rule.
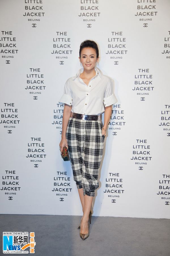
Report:
[[[77,188],[83,188],[84,195],[95,196],[95,189],[99,187],[97,179],[104,147],[100,120],[70,117],[66,138]]]

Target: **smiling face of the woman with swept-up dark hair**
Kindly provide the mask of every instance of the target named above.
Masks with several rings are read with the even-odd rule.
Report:
[[[79,57],[80,62],[84,69],[90,71],[94,69],[96,62],[99,60],[94,48],[85,47],[81,51],[81,56]]]

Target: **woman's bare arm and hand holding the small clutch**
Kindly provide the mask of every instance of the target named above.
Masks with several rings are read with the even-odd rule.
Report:
[[[61,152],[62,152],[64,146],[66,146],[68,149],[68,143],[67,143],[67,139],[66,139],[66,130],[67,130],[69,118],[71,116],[71,108],[72,108],[72,106],[64,104],[62,134],[61,134],[61,141],[59,143]]]

